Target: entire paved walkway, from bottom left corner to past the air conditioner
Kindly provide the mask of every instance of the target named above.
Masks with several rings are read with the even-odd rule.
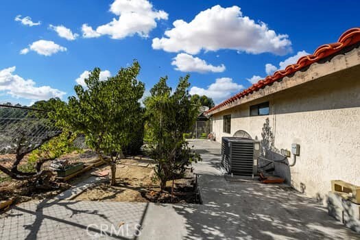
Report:
[[[204,204],[26,202],[1,215],[0,239],[360,239],[288,187],[226,180],[218,143],[191,145],[203,158],[194,169]],[[123,233],[106,236],[111,226]]]

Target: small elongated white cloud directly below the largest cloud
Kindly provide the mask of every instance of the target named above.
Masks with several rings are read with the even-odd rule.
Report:
[[[213,66],[212,64],[206,63],[205,60],[194,58],[187,53],[178,53],[178,55],[173,58],[171,65],[176,66],[175,69],[182,72],[222,73],[226,69],[224,64]]]

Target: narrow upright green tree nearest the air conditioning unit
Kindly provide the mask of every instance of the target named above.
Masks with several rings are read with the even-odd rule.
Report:
[[[200,159],[182,137],[197,116],[197,105],[191,102],[189,86],[189,75],[180,77],[176,91],[171,95],[167,77],[161,77],[150,90],[151,96],[144,101],[147,139],[153,144],[152,154],[158,163],[155,172],[161,190],[165,189],[168,180],[182,176],[191,161]]]

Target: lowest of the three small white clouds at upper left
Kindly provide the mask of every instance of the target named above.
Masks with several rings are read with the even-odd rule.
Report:
[[[36,51],[36,53],[44,56],[51,56],[58,51],[67,51],[66,47],[62,47],[53,41],[49,40],[38,40],[29,45],[28,48],[22,49],[20,54],[26,54],[30,50]]]

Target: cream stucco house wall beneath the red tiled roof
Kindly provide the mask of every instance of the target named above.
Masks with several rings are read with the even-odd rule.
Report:
[[[250,105],[263,101],[269,101],[270,114],[250,117]],[[228,114],[232,117],[230,134],[222,132],[222,117]],[[360,186],[359,67],[219,112],[212,117],[213,131],[219,142],[237,130],[261,140],[267,118],[274,134],[274,152],[300,144],[294,167],[276,164],[276,173],[298,191],[325,200],[331,180]],[[272,158],[279,156],[274,153]]]

